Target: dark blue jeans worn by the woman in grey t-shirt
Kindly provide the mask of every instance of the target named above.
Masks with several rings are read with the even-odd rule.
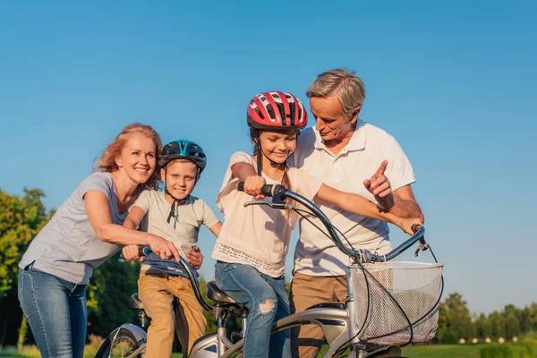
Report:
[[[43,357],[82,358],[88,311],[86,285],[33,268],[19,269],[19,301]]]

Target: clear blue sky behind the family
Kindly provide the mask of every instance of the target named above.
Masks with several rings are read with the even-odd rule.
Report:
[[[472,311],[522,307],[537,301],[536,12],[529,1],[2,2],[0,188],[38,187],[57,208],[141,121],[206,149],[194,194],[217,209],[228,158],[251,150],[248,100],[275,89],[305,100],[319,72],[345,66],[366,84],[362,119],[413,163],[446,293]],[[204,229],[204,277],[214,242]]]

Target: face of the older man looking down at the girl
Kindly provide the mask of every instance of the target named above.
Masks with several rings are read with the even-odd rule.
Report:
[[[343,141],[352,136],[360,107],[349,116],[345,115],[337,97],[312,97],[310,108],[315,118],[315,129],[319,131],[323,141]]]

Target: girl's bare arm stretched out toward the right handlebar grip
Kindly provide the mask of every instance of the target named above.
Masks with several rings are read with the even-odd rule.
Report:
[[[413,234],[411,226],[413,224],[422,224],[422,220],[416,218],[402,218],[396,215],[380,209],[375,203],[364,197],[353,194],[350,192],[341,192],[337,189],[328,186],[327,184],[321,184],[319,192],[317,192],[317,198],[320,200],[328,201],[345,211],[352,212],[362,217],[378,218],[382,221],[387,221],[396,226],[399,226],[401,230],[406,234]]]

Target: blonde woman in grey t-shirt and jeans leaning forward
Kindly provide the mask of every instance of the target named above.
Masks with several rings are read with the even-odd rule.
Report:
[[[121,245],[149,244],[162,258],[179,253],[155,234],[122,226],[145,188],[155,188],[158,133],[124,127],[88,176],[30,243],[19,263],[19,301],[43,357],[81,358],[86,341],[86,286],[93,268]]]

